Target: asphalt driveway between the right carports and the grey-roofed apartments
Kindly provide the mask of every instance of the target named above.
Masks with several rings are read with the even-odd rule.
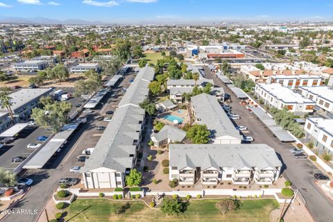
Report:
[[[232,103],[230,103],[232,112],[239,114],[241,117],[241,119],[235,122],[238,125],[248,128],[248,133],[245,133],[245,135],[252,136],[257,144],[267,144],[275,149],[275,152],[284,164],[283,176],[287,180],[291,180],[294,189],[300,190],[300,193],[307,201],[307,210],[309,210],[315,221],[332,221],[333,202],[314,183],[314,173],[321,171],[307,159],[295,159],[289,152],[289,149],[293,148],[292,144],[282,143],[273,137],[273,133],[266,128],[264,123],[258,121],[255,114],[246,110],[244,105],[240,105],[240,100],[234,96],[231,90],[219,78],[207,69],[205,69],[205,74],[207,78],[214,80],[214,85],[223,87],[225,93],[230,94],[232,98]]]

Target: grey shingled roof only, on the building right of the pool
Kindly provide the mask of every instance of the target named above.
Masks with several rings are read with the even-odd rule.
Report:
[[[228,115],[224,112],[215,96],[199,94],[191,97],[191,103],[197,119],[205,124],[208,130],[214,133],[214,137],[231,136],[242,139],[239,130],[234,128]]]

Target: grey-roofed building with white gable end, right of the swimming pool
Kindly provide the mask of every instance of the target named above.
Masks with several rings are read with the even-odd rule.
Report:
[[[234,128],[215,96],[205,93],[192,96],[191,112],[196,123],[205,124],[210,130],[214,144],[241,144],[239,130]]]

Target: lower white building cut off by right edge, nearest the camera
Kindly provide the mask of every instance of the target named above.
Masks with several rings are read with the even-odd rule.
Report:
[[[305,138],[314,142],[318,153],[333,154],[333,119],[307,118],[304,130]]]

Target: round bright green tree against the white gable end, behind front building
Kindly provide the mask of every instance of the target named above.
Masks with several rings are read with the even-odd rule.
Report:
[[[210,130],[206,125],[196,124],[187,130],[186,136],[194,144],[207,144],[210,141]]]

